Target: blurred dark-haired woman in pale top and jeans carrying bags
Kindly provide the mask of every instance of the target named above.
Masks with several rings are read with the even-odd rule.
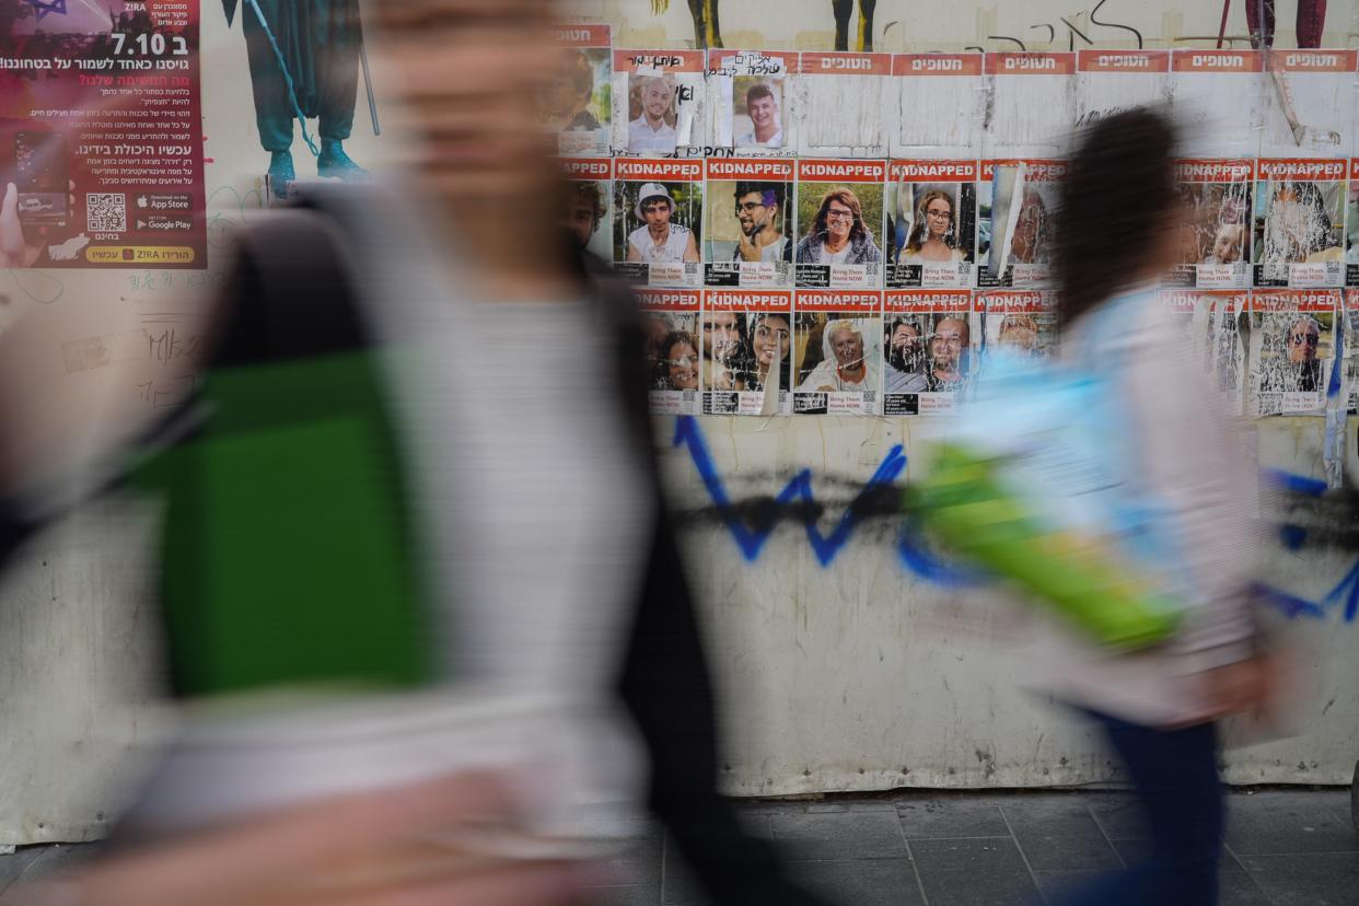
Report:
[[[1121,401],[1136,470],[1124,481],[1157,501],[1152,534],[1174,551],[1184,618],[1139,653],[1052,633],[1057,694],[1090,713],[1123,758],[1152,837],[1150,857],[1063,903],[1218,902],[1223,792],[1216,720],[1263,704],[1267,662],[1248,606],[1256,537],[1241,488],[1242,444],[1188,341],[1155,304],[1178,255],[1176,136],[1144,109],[1097,124],[1071,159],[1055,231],[1060,352],[1098,363]],[[1245,482],[1245,484],[1243,484]]]

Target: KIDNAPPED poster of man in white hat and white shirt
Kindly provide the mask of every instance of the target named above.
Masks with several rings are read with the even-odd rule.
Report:
[[[614,270],[643,285],[703,281],[703,160],[613,162]]]

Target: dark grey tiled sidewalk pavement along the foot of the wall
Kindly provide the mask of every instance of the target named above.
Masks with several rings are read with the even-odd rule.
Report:
[[[1132,799],[1112,792],[917,791],[821,801],[743,803],[806,886],[845,906],[1027,906],[1131,863],[1147,838]],[[1359,903],[1349,791],[1260,789],[1229,801],[1222,906]],[[0,856],[0,892],[68,868],[96,845]],[[703,895],[654,822],[612,861],[599,906],[700,906]]]

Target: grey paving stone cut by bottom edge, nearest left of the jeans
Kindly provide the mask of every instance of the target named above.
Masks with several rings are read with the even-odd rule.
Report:
[[[1038,902],[1019,848],[1008,837],[912,841],[930,906],[1015,906]]]

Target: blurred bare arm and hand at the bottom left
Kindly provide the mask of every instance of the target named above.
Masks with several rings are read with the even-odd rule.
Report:
[[[571,906],[586,872],[477,858],[429,834],[504,818],[497,786],[457,777],[352,795],[116,856],[3,906]],[[442,858],[432,858],[443,856]]]

